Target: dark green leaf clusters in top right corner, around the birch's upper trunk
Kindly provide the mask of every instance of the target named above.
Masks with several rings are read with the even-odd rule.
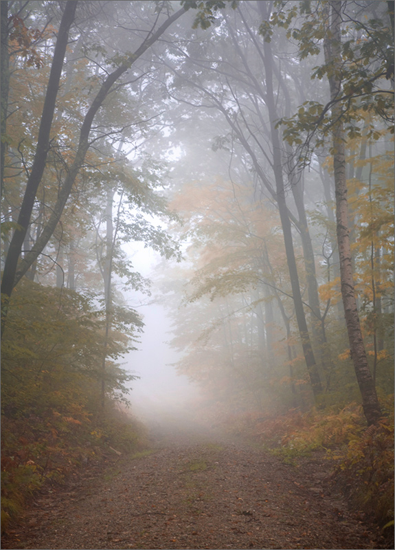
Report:
[[[266,41],[271,41],[273,28],[284,28],[286,38],[295,41],[301,60],[308,56],[319,56],[322,40],[329,32],[328,2],[300,2],[291,5],[291,8],[287,4],[289,2],[284,0],[275,1],[271,19],[262,23],[260,33]],[[384,2],[378,7],[381,11],[387,9]],[[326,143],[326,137],[336,122],[332,117],[334,102],[341,104],[341,119],[350,140],[361,137],[363,130],[359,122],[365,119],[367,113],[381,118],[389,125],[390,131],[394,131],[394,90],[388,82],[394,80],[390,16],[385,11],[381,17],[368,12],[362,18],[361,14],[353,13],[352,9],[352,3],[345,3],[341,8],[341,89],[337,98],[326,104],[306,100],[295,115],[278,121],[279,125],[283,125],[284,139],[298,146],[298,162],[301,166],[310,164],[313,149]],[[330,78],[334,71],[333,63],[328,61],[314,67],[311,78]],[[379,136],[376,124],[370,124],[368,137],[376,140]]]

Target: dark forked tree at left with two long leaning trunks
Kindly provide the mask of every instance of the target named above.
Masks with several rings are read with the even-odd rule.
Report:
[[[91,143],[89,142],[89,135],[91,133],[91,127],[93,119],[96,113],[102,107],[102,104],[106,97],[109,95],[111,89],[113,89],[117,80],[125,74],[135,63],[135,61],[141,57],[148,48],[153,45],[162,34],[177,21],[181,15],[185,13],[185,9],[181,8],[171,16],[167,17],[159,27],[157,27],[157,19],[153,23],[153,26],[142,40],[142,43],[137,47],[133,54],[126,54],[121,56],[121,61],[117,63],[117,68],[111,72],[107,72],[107,76],[104,79],[98,93],[91,102],[89,109],[87,109],[86,115],[80,126],[80,136],[78,140],[78,147],[74,159],[68,166],[67,175],[63,180],[60,190],[58,192],[58,199],[52,208],[52,215],[49,217],[45,227],[41,231],[40,236],[34,243],[30,252],[25,254],[23,259],[19,263],[23,241],[27,232],[27,225],[30,221],[32,214],[32,208],[34,206],[34,199],[36,197],[36,191],[43,176],[43,170],[45,168],[45,162],[48,153],[49,135],[52,128],[52,120],[54,117],[54,108],[56,102],[56,95],[58,91],[58,83],[60,80],[60,74],[62,72],[63,61],[65,59],[65,50],[67,47],[68,34],[71,24],[74,21],[76,13],[77,2],[68,1],[66,4],[65,12],[63,14],[62,21],[58,32],[58,39],[54,50],[54,58],[52,61],[52,70],[49,76],[47,85],[47,95],[45,98],[45,105],[43,108],[43,115],[41,118],[40,133],[38,135],[38,142],[36,148],[36,155],[34,157],[34,164],[30,172],[30,176],[27,180],[27,185],[24,193],[21,213],[19,214],[18,227],[14,231],[10,248],[8,250],[7,257],[5,259],[3,280],[1,282],[1,294],[3,294],[3,309],[2,309],[2,327],[4,327],[5,316],[7,314],[7,303],[10,298],[13,287],[21,280],[21,277],[27,272],[30,266],[36,261],[36,258],[45,248],[45,245],[49,241],[50,237],[56,229],[56,225],[60,220],[67,199],[69,198],[71,189],[76,181],[76,177],[80,172],[81,166],[84,164],[85,156]],[[162,6],[163,8],[163,6]],[[93,140],[94,141],[94,140]],[[19,263],[19,267],[18,267]]]

